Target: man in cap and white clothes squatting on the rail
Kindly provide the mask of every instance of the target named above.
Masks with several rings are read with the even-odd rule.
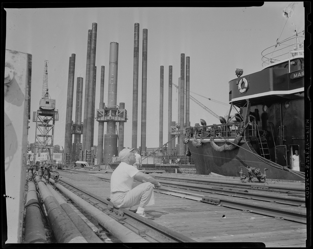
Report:
[[[154,204],[153,187],[161,187],[161,183],[133,166],[136,162],[133,150],[126,148],[119,153],[121,163],[111,176],[110,201],[118,208],[131,207],[131,211],[139,204],[136,214],[152,220],[154,217],[145,212],[145,207]],[[143,183],[132,188],[134,179]]]

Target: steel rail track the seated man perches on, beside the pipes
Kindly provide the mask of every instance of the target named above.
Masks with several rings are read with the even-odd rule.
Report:
[[[94,206],[98,206],[101,208],[102,212],[119,221],[131,231],[138,233],[141,237],[146,239],[147,242],[196,242],[182,234],[168,229],[167,227],[163,227],[153,221],[145,219],[125,208],[115,208],[108,200],[105,200],[65,180],[59,181],[78,190],[83,193],[83,195],[87,195],[88,197],[82,198],[94,202]]]

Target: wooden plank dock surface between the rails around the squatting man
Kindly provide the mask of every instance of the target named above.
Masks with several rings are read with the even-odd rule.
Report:
[[[110,182],[97,175],[60,172],[60,176],[61,180],[99,197],[110,197]],[[155,217],[153,222],[197,242],[263,242],[266,247],[305,247],[305,224],[166,195],[158,190],[154,196],[155,205],[146,207],[146,212]]]

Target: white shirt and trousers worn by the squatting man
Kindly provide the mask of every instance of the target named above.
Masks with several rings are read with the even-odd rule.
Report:
[[[134,176],[139,172],[126,162],[121,162],[111,176],[111,202],[115,207],[146,207],[154,204],[153,184],[144,182],[132,189]]]

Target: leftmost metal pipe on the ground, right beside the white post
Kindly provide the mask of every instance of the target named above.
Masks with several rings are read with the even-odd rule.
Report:
[[[28,182],[25,208],[24,242],[26,243],[47,243],[39,205],[35,183],[30,181]]]

